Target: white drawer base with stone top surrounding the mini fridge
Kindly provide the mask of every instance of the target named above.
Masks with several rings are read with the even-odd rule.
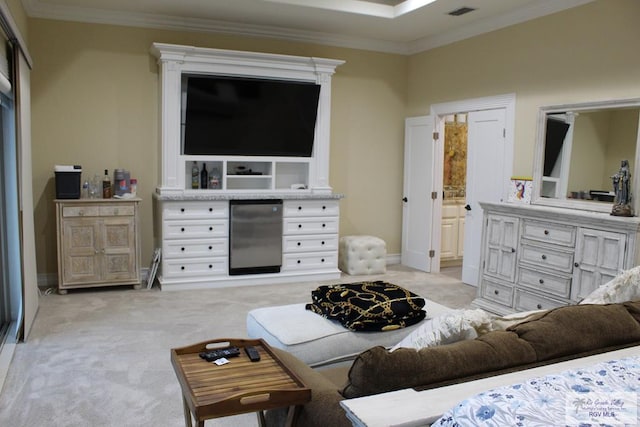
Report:
[[[341,196],[283,199],[282,267],[279,273],[229,274],[229,200],[249,194],[154,198],[156,247],[162,248],[158,280],[163,290],[326,280],[340,276],[338,227]],[[208,199],[207,199],[208,198]]]

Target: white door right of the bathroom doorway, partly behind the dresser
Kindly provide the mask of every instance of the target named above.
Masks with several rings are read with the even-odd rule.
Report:
[[[462,281],[473,286],[478,285],[482,244],[482,208],[478,202],[501,201],[509,182],[505,176],[505,118],[503,108],[475,111],[467,117],[467,213]]]

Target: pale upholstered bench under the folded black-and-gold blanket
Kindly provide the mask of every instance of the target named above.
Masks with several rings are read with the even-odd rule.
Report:
[[[429,300],[424,309],[427,319],[452,310]],[[354,359],[377,345],[393,347],[421,324],[393,331],[351,332],[339,322],[306,310],[303,303],[251,310],[247,334],[286,350],[311,367],[320,367]]]

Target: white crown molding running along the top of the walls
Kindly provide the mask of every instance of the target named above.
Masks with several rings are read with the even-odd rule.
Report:
[[[581,6],[594,0],[537,0],[532,2],[527,8],[485,18],[457,30],[447,31],[437,36],[425,37],[408,43],[334,33],[294,30],[267,25],[240,24],[211,19],[179,18],[153,13],[119,12],[67,5],[53,5],[43,3],[40,0],[21,1],[27,15],[31,18],[153,28],[159,30],[261,37],[399,55],[412,55],[561,10]]]

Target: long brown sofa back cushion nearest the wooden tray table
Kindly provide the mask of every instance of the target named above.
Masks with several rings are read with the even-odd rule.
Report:
[[[342,394],[353,398],[421,387],[535,361],[531,346],[506,331],[421,350],[399,348],[389,352],[374,347],[360,353],[353,362]]]

